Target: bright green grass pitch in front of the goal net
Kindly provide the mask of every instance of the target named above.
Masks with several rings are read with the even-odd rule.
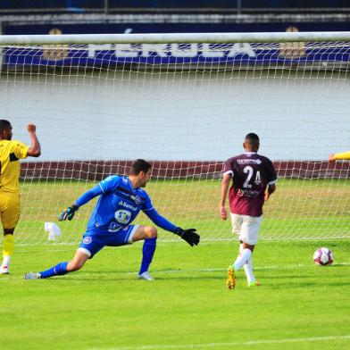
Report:
[[[289,185],[279,191],[287,193]],[[51,185],[44,186],[47,191]],[[38,228],[37,221],[41,225],[47,218],[32,210],[22,222]],[[293,223],[293,217],[287,219]],[[332,266],[313,263],[319,246],[333,251]],[[11,275],[0,276],[1,349],[350,348],[349,239],[262,239],[254,251],[254,273],[262,287],[246,287],[242,270],[236,289],[226,288],[227,267],[238,249],[232,237],[197,247],[159,242],[153,282],[137,279],[141,242],[107,247],[83,270],[63,277],[22,278],[26,271],[69,260],[75,249],[17,247]]]

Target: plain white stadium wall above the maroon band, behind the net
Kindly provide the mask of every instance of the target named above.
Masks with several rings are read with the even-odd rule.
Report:
[[[0,115],[42,162],[146,158],[220,162],[257,132],[274,161],[322,161],[350,149],[346,72],[86,71],[3,74]]]

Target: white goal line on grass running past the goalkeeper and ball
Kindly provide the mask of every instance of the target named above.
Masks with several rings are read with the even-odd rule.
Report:
[[[303,264],[303,263],[298,263],[298,264],[293,264],[293,265],[288,265],[288,266],[278,266],[278,265],[269,265],[269,266],[263,266],[263,267],[256,267],[254,268],[254,271],[286,271],[286,270],[296,270],[296,269],[305,269],[305,268],[310,268],[314,267],[315,269],[329,269],[329,268],[334,268],[335,266],[350,266],[350,262],[339,262],[339,263],[334,263],[332,267],[330,266],[316,266],[312,263],[310,264]],[[48,268],[48,266],[46,266]],[[217,269],[171,269],[171,270],[152,270],[152,273],[170,273],[170,274],[183,274],[183,273],[203,273],[203,272],[226,272],[227,268],[217,268]],[[27,271],[28,272],[28,271]],[[101,272],[86,272],[86,273],[71,273],[69,275],[65,275],[63,278],[71,277],[72,279],[79,279],[79,277],[101,277],[101,275],[104,274],[104,271]],[[110,274],[110,272],[109,272]],[[115,271],[113,273],[114,275],[137,275],[137,272],[135,271]],[[4,275],[3,278],[0,277],[1,280],[7,280],[6,276]],[[24,273],[23,273],[24,276]],[[156,279],[156,276],[154,276]],[[16,276],[12,277],[11,275],[8,276],[9,279],[23,279],[22,276]]]

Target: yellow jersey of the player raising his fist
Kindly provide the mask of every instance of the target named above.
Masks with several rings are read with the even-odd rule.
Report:
[[[20,159],[27,158],[29,146],[20,141],[0,140],[0,191],[20,191]]]

